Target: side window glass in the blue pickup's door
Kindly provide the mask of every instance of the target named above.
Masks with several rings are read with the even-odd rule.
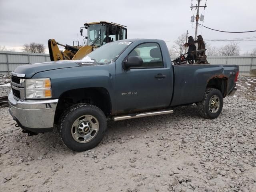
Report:
[[[150,67],[163,67],[163,59],[160,47],[157,43],[144,43],[138,45],[130,54],[130,56],[139,56],[143,60],[141,67],[150,68]],[[128,58],[127,57],[127,58]],[[140,68],[141,68],[140,67]]]

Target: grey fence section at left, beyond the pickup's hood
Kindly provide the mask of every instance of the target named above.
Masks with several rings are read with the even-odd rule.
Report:
[[[22,64],[48,61],[49,54],[0,51],[0,74],[8,74]]]

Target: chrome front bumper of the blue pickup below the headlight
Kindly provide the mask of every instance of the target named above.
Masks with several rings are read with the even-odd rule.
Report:
[[[52,130],[58,99],[17,101],[11,92],[8,102],[10,114],[21,128],[32,132]]]

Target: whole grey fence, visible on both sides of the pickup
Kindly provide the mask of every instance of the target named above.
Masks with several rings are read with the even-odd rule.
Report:
[[[207,60],[212,65],[238,65],[239,73],[243,75],[256,69],[256,56],[211,56]],[[0,51],[0,74],[8,74],[22,64],[48,61],[49,54]]]

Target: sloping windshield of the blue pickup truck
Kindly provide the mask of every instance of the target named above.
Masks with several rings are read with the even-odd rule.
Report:
[[[132,42],[130,41],[115,41],[107,43],[100,48],[97,48],[90,54],[86,55],[81,60],[83,62],[97,62],[98,64],[110,64],[114,62],[118,56],[125,50]]]

